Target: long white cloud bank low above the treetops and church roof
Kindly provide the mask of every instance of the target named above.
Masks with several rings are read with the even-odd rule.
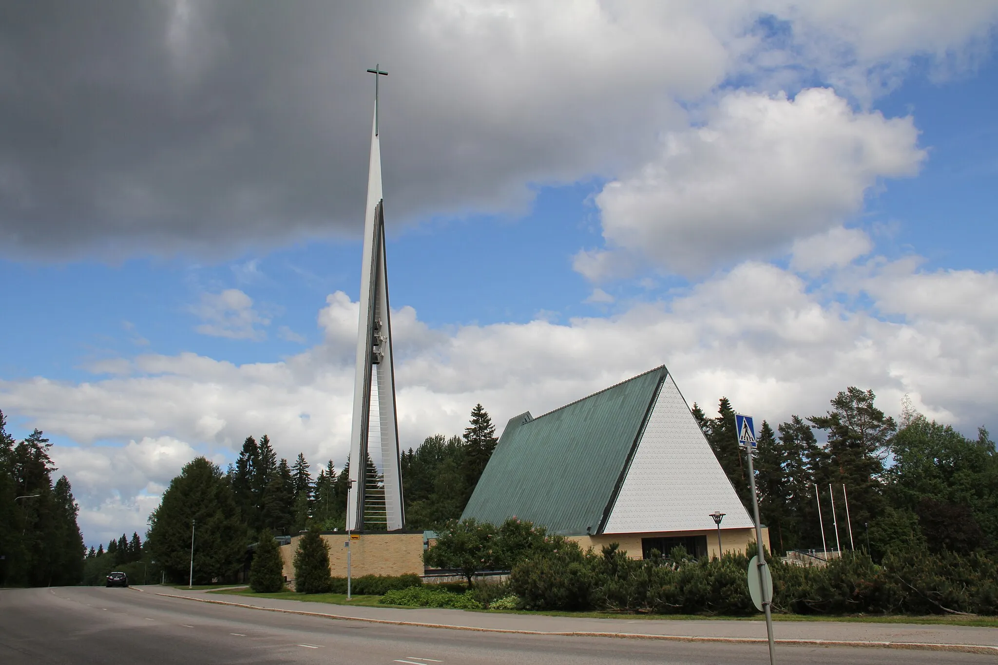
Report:
[[[433,330],[403,307],[392,318],[402,445],[460,432],[476,402],[501,429],[524,410],[543,413],[660,363],[690,402],[710,411],[726,395],[773,423],[821,412],[856,385],[872,388],[888,413],[909,394],[929,417],[965,431],[995,424],[998,275],[874,257],[832,269],[827,289],[865,294],[873,305],[854,309],[790,271],[749,261],[610,318]],[[80,444],[55,454],[81,521],[120,533],[123,523],[144,522],[198,450],[231,459],[246,436],[267,433],[281,456],[342,464],[356,315],[355,302],[330,295],[318,317],[325,341],[281,362],[145,355],[129,375],[94,382],[0,381],[0,401],[8,414]],[[102,441],[125,445],[93,443]]]

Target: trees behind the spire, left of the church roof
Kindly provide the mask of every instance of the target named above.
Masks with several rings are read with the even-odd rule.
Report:
[[[428,437],[401,455],[405,526],[432,528],[459,517],[488,464],[497,439],[482,405],[472,409],[464,436]],[[368,488],[383,491],[366,460]],[[231,579],[247,565],[247,546],[260,534],[292,535],[307,529],[343,529],[350,460],[333,461],[311,476],[303,454],[278,459],[270,439],[247,437],[226,472],[199,457],[174,478],[150,515],[146,547],[173,580],[186,580],[194,539],[195,580]],[[365,516],[364,528],[384,529],[384,517]],[[159,567],[157,568],[159,569]]]

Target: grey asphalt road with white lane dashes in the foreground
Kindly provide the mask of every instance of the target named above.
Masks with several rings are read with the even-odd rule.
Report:
[[[994,663],[993,656],[778,647],[787,663]],[[765,646],[391,626],[164,598],[135,589],[0,590],[0,663],[768,663]]]

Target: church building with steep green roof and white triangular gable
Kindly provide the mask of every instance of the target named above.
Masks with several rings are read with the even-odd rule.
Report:
[[[633,558],[682,545],[744,550],[755,534],[665,366],[534,418],[511,418],[462,518],[519,517]],[[762,529],[768,546],[768,532]]]

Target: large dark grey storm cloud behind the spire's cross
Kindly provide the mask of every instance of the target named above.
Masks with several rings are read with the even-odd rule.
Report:
[[[677,117],[671,93],[701,94],[723,73],[704,29],[681,25],[663,42],[627,17],[559,31],[551,10],[517,12],[4,3],[0,249],[123,256],[352,234],[373,92],[364,70],[376,62],[390,71],[381,125],[395,222],[515,208],[532,181],[632,163]],[[659,65],[640,71],[649,57]]]

